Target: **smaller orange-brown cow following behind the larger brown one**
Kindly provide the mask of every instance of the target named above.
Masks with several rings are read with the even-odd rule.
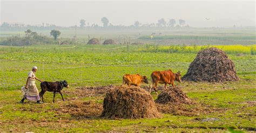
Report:
[[[140,76],[139,74],[125,74],[123,76],[123,84],[122,86],[125,85],[125,83],[130,87],[131,85],[138,86],[140,87],[141,83],[149,83],[147,81],[146,76]]]

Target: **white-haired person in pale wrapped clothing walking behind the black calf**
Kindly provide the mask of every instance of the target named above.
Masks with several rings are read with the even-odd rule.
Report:
[[[36,87],[36,80],[43,82],[43,80],[39,80],[36,78],[36,73],[37,67],[34,66],[32,68],[32,71],[29,72],[28,79],[26,80],[26,86],[25,89],[27,90],[26,93],[24,94],[23,99],[19,103],[24,103],[24,100],[30,100],[30,101],[36,101],[36,103],[43,103],[40,101],[40,96],[38,89]]]

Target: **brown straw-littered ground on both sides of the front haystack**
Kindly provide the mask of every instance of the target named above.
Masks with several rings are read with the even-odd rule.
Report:
[[[85,97],[97,97],[98,100],[103,100],[107,91],[113,86],[98,86],[98,87],[79,87],[73,91],[65,90],[64,93],[67,95],[74,95],[69,97],[67,104],[61,105],[58,109],[61,113],[71,114],[73,117],[77,118],[90,118],[97,116],[99,117],[103,111],[103,104],[97,101],[80,101]],[[142,87],[143,89],[149,91],[149,87]],[[164,87],[158,87],[158,90],[163,90]],[[172,89],[169,87],[168,89]],[[201,114],[213,113],[213,112],[223,112],[225,109],[213,108],[207,106],[204,103],[193,102],[190,104],[185,103],[156,103],[157,109],[160,113],[173,114],[181,116],[199,116]]]

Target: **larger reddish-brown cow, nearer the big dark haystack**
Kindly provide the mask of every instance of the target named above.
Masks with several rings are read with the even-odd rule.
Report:
[[[154,90],[157,93],[157,83],[164,83],[165,84],[165,89],[167,89],[167,83],[170,85],[172,84],[172,87],[175,88],[174,86],[174,80],[181,82],[180,79],[180,71],[177,73],[173,73],[171,69],[166,70],[166,71],[154,71],[151,74],[151,85],[150,85],[150,93],[151,93],[151,87],[153,86]]]

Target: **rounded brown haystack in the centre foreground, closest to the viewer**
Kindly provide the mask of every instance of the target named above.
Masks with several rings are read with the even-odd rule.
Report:
[[[160,117],[149,92],[137,87],[113,87],[103,102],[103,117],[154,118]]]

